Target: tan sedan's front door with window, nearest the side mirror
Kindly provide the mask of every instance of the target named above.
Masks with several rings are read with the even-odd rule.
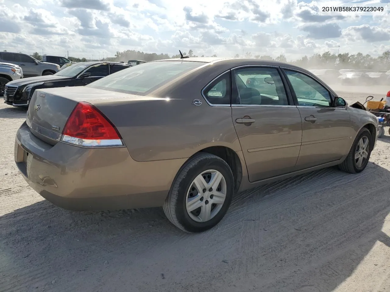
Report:
[[[341,159],[354,137],[346,107],[334,107],[330,92],[312,77],[284,69],[302,118],[302,146],[297,167],[304,169]]]

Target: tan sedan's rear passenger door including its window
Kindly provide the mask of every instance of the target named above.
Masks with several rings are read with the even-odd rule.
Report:
[[[282,78],[278,67],[232,70],[232,121],[251,182],[296,167],[302,122]]]

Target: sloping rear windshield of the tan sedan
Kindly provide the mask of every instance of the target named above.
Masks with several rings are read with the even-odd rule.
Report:
[[[204,62],[191,61],[147,62],[113,73],[86,86],[129,94],[146,95],[180,75],[205,64]]]

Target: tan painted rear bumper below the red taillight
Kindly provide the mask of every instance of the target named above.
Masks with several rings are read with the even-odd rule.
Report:
[[[162,206],[183,159],[136,162],[127,148],[88,149],[35,137],[26,123],[15,139],[14,158],[27,183],[69,210]]]

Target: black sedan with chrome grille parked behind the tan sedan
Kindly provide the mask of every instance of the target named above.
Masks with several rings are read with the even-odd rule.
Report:
[[[80,62],[53,75],[11,81],[5,85],[4,103],[25,107],[36,89],[84,86],[129,67],[131,65],[119,62]]]

